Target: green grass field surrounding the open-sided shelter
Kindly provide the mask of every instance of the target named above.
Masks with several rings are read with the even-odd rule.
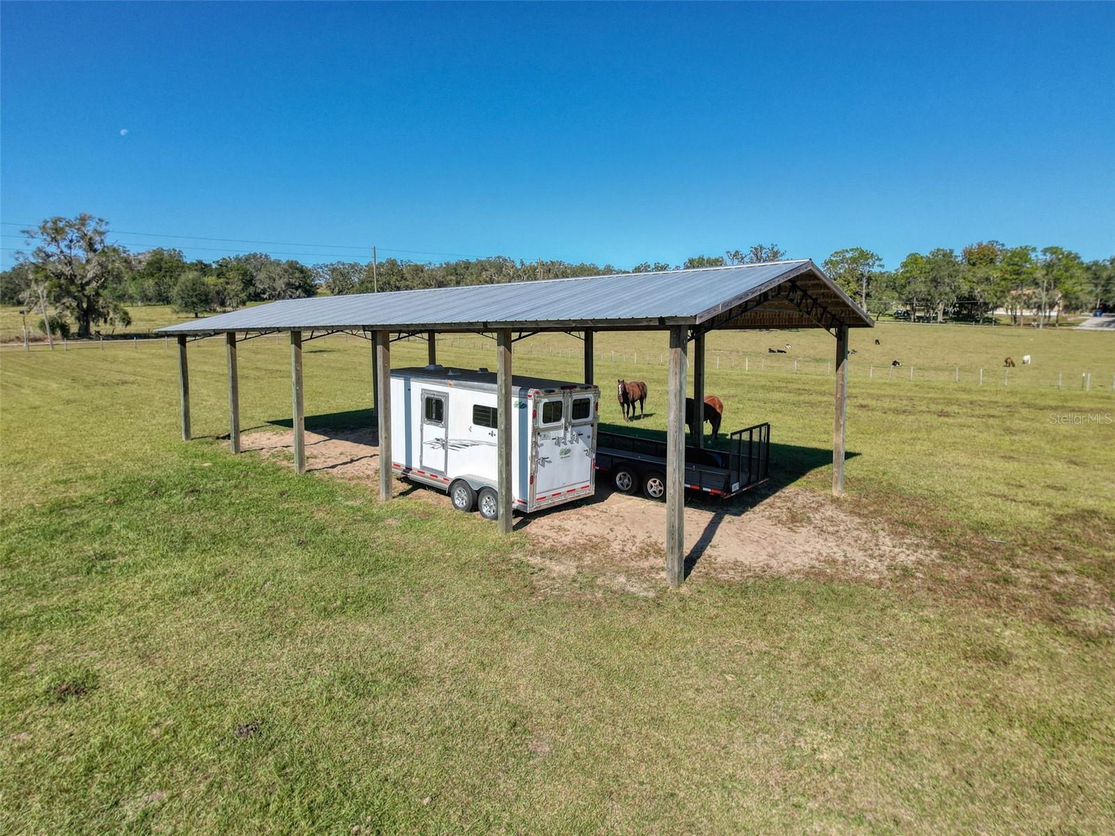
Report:
[[[734,362],[787,340],[797,372]],[[709,340],[726,425],[769,420],[797,450],[776,482],[818,494],[832,344]],[[439,360],[491,366],[491,346]],[[579,347],[527,340],[516,370],[575,378]],[[841,504],[924,562],[698,566],[651,599],[543,589],[524,534],[230,456],[216,341],[191,346],[188,445],[172,350],[6,351],[0,830],[1111,832],[1115,425],[1056,417],[1115,414],[1115,341],[890,325],[852,347]],[[644,379],[641,426],[663,428],[665,338],[597,349],[602,386]],[[949,376],[1022,353],[1029,386]],[[927,378],[867,379],[895,357]],[[308,343],[308,415],[367,406],[368,360]],[[253,340],[240,363],[243,425],[287,419],[287,348]],[[1059,367],[1101,382],[1037,377]]]

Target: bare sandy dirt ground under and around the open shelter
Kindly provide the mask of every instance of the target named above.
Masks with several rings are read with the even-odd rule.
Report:
[[[330,429],[328,435],[308,430],[307,469],[374,489],[376,445],[376,432],[368,428]],[[292,434],[251,432],[243,436],[243,448],[289,463]],[[399,483],[397,490],[404,489]],[[413,495],[449,507],[448,497],[433,488],[418,487]],[[637,594],[661,590],[665,508],[642,496],[609,490],[604,474],[591,499],[517,517],[515,527],[527,535],[526,560],[555,582],[586,573]],[[730,502],[690,495],[685,528],[691,572],[723,579],[818,570],[881,577],[896,565],[930,556],[923,544],[896,539],[830,497],[794,487],[762,485]]]

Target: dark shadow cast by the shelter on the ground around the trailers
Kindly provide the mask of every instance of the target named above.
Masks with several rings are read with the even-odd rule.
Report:
[[[648,412],[647,417],[649,418],[652,415],[653,412]],[[663,443],[666,441],[665,430],[633,426],[638,422],[639,419],[629,424],[601,424],[600,429],[608,432],[624,432],[640,438],[648,438]],[[284,427],[290,429],[293,427],[293,420],[290,418],[279,418],[268,421],[265,426]],[[345,438],[351,434],[352,430],[368,430],[370,431],[370,444],[378,444],[376,421],[370,409],[350,409],[342,412],[327,412],[323,415],[307,416],[306,428],[317,435],[323,436],[326,439]],[[346,438],[346,440],[350,439]],[[706,446],[711,450],[727,450],[728,439],[724,435],[719,436],[716,440],[706,436]],[[846,458],[854,458],[857,455],[857,453],[847,453]],[[772,441],[769,458],[770,478],[766,482],[760,483],[752,487],[749,490],[745,490],[730,499],[718,499],[717,497],[701,492],[687,490],[686,506],[689,508],[706,511],[710,514],[710,516],[708,522],[705,524],[700,536],[697,538],[697,542],[686,555],[686,576],[688,576],[697,566],[697,563],[712,543],[717,529],[719,529],[726,517],[743,516],[756,505],[776,494],[779,489],[793,485],[806,474],[809,474],[818,468],[831,466],[833,460],[832,456],[832,450],[825,447],[804,447],[802,445],[778,444],[776,441]],[[363,457],[361,456],[358,458]],[[330,467],[339,467],[340,464],[334,464]],[[416,486],[411,484],[407,487],[405,493],[409,494],[415,489]],[[607,502],[608,497],[611,496],[612,493],[613,488],[608,474],[600,473],[598,474],[595,493],[592,496],[585,497],[584,499],[573,504],[582,507],[598,505]],[[646,502],[653,500],[647,499]],[[560,513],[565,507],[568,506],[559,505],[554,508],[535,512],[530,516],[520,516],[515,521],[515,529],[522,531],[527,528],[534,519],[541,519],[551,514]],[[662,512],[665,517],[665,503]]]

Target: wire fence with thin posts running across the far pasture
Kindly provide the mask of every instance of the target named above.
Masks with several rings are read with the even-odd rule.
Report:
[[[312,332],[306,332],[312,336]],[[255,338],[261,339],[261,338]],[[274,342],[284,342],[285,333],[264,334],[262,339]],[[351,333],[329,333],[317,336],[314,339],[323,340],[366,340]],[[399,341],[425,343],[425,339],[418,336],[403,337]],[[194,342],[224,344],[223,337],[200,338]],[[177,343],[168,337],[142,338],[133,337],[128,339],[100,339],[100,340],[55,340],[51,349],[46,342],[30,343],[6,343],[0,346],[2,353],[25,352],[39,353],[43,351],[140,351],[153,349],[171,349]],[[191,343],[193,344],[193,343]],[[437,339],[439,349],[462,349],[467,351],[485,351],[494,346],[494,341],[484,337],[473,334],[439,334]],[[580,360],[582,357],[581,346],[569,348],[555,348],[541,343],[531,344],[524,340],[515,343],[516,354],[529,357],[554,357],[568,360]],[[593,358],[600,362],[610,362],[628,367],[661,366],[668,362],[666,351],[634,349],[612,350],[600,349],[593,351]],[[727,349],[707,349],[706,369],[734,370],[745,373],[774,373],[774,375],[811,375],[828,376],[833,375],[832,360],[818,360],[816,358],[784,357],[783,354],[752,353],[746,351],[731,351]],[[691,359],[690,359],[691,363]],[[874,364],[855,357],[849,358],[847,371],[850,378],[862,378],[867,380],[891,381],[895,383],[953,383],[977,387],[1029,387],[1029,388],[1053,388],[1053,389],[1076,389],[1083,391],[1108,391],[1115,392],[1115,369],[1049,369],[1035,366],[1016,367],[969,367],[969,366],[893,366]]]

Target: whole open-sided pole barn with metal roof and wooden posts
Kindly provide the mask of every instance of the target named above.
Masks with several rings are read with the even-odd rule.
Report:
[[[190,432],[190,382],[186,343],[224,334],[229,352],[229,409],[232,450],[240,449],[236,343],[285,332],[291,344],[294,460],[306,469],[302,405],[302,344],[330,333],[348,332],[372,342],[375,414],[379,427],[379,495],[391,496],[390,344],[404,337],[425,338],[429,362],[436,363],[437,334],[482,333],[493,337],[498,388],[498,504],[501,531],[511,519],[511,378],[515,342],[536,333],[574,333],[583,339],[584,380],[593,378],[593,336],[600,331],[669,333],[669,387],[666,465],[666,575],[685,579],[685,437],[686,377],[694,364],[695,409],[705,406],[705,338],[715,330],[823,328],[835,338],[833,406],[833,494],[844,492],[844,437],[847,414],[850,328],[874,323],[824,272],[808,260],[739,264],[656,273],[551,279],[506,284],[314,297],[271,302],[159,329],[177,338],[182,437]],[[240,334],[237,337],[237,334]],[[690,351],[691,348],[691,351]],[[704,444],[704,427],[696,434]]]

